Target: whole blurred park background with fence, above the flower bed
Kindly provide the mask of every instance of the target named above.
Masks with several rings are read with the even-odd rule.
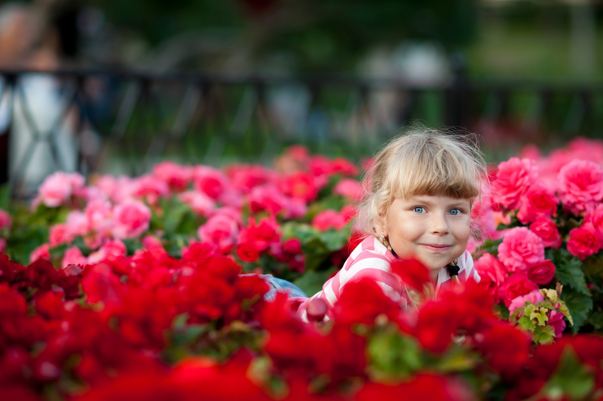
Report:
[[[491,162],[601,138],[602,21],[595,0],[5,1],[0,182],[292,144],[357,161],[413,123]]]

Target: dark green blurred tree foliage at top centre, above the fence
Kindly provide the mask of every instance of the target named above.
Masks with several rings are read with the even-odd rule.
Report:
[[[477,12],[476,0],[90,2],[120,30],[163,49],[155,55],[169,54],[169,67],[178,54],[180,67],[220,71],[253,71],[275,57],[289,70],[350,71],[371,47],[408,39],[432,40],[453,50],[475,36]]]

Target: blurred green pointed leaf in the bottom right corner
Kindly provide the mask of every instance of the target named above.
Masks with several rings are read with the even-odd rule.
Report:
[[[583,399],[595,385],[592,373],[579,361],[572,348],[566,347],[561,353],[560,363],[546,385],[549,395],[567,394],[570,399]],[[553,399],[554,397],[550,397]]]

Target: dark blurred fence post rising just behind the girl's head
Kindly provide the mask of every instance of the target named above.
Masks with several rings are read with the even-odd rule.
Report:
[[[452,83],[446,89],[444,122],[447,126],[469,129],[471,99],[463,55],[460,53],[453,54],[450,63],[452,64],[453,78]]]

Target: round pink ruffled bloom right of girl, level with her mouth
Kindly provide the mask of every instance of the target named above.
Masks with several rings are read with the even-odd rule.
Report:
[[[508,272],[526,270],[545,260],[542,240],[526,227],[510,229],[498,246],[498,257]]]

